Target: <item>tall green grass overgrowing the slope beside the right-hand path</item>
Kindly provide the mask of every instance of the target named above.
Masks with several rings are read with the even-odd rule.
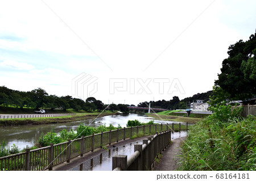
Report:
[[[180,170],[256,170],[255,116],[229,113],[224,121],[218,119],[209,116],[189,130]]]

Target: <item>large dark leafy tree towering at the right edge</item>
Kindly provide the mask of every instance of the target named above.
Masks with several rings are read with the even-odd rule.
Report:
[[[214,83],[230,94],[230,100],[245,100],[256,93],[255,47],[256,33],[246,42],[240,40],[228,48],[229,57],[222,62],[221,74]]]

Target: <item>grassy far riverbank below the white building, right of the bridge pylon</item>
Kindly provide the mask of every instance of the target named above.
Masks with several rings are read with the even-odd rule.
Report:
[[[164,121],[177,121],[182,123],[197,123],[198,121],[203,120],[198,117],[195,118],[195,117],[182,117],[182,116],[174,116],[174,115],[161,115],[161,112],[159,113],[145,113],[145,115],[148,117],[154,117],[155,119],[162,119]]]

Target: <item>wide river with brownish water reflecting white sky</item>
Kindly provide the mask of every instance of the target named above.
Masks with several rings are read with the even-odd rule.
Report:
[[[128,120],[139,120],[141,122],[147,123],[150,120],[154,120],[152,117],[147,117],[142,114],[129,113],[127,115],[110,115],[104,117],[98,117],[97,119],[87,119],[82,121],[76,121],[72,123],[58,123],[58,124],[42,124],[42,125],[22,125],[15,127],[2,127],[0,128],[0,143],[5,140],[6,144],[12,146],[17,145],[19,149],[26,148],[26,146],[33,146],[38,142],[40,136],[47,132],[51,132],[54,129],[55,133],[59,133],[63,129],[67,131],[75,130],[81,123],[85,125],[90,125],[92,127],[97,127],[99,125],[109,126],[109,124],[117,127],[118,124],[121,127],[126,127]],[[155,123],[163,123],[161,120],[154,120]],[[166,121],[166,123],[174,123],[174,121]],[[177,123],[177,122],[175,122]]]

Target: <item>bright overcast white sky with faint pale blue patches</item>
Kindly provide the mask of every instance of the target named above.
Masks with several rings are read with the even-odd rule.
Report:
[[[256,1],[1,1],[0,86],[108,104],[212,90]]]

